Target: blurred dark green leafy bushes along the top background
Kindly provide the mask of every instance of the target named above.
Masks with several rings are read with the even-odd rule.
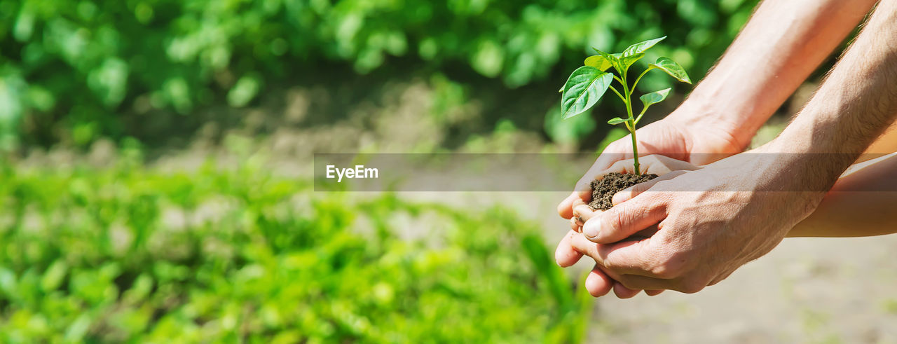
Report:
[[[666,33],[682,48],[658,53],[700,78],[755,3],[0,0],[0,143],[59,136],[62,125],[80,144],[127,134],[122,114],[242,107],[274,82],[309,82],[329,61],[358,73],[388,56],[424,70],[463,64],[516,87],[581,63],[563,56]]]

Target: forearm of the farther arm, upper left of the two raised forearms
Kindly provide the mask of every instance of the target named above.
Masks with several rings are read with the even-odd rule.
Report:
[[[838,47],[873,0],[764,1],[677,111],[710,121],[745,148],[806,77]],[[705,122],[706,123],[706,122]]]

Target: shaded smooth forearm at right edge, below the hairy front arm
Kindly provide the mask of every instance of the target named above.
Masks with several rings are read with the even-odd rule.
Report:
[[[878,236],[897,232],[897,155],[857,166],[826,193],[809,217],[788,236]]]

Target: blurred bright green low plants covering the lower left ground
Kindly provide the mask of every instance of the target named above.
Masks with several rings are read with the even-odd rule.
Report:
[[[588,293],[571,289],[539,228],[511,211],[353,200],[261,166],[213,165],[0,164],[0,342],[575,342],[585,333]]]

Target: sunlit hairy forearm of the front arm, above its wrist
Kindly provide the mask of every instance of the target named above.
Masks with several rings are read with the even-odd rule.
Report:
[[[897,115],[897,0],[878,4],[866,28],[813,99],[760,151],[791,188],[829,190]],[[794,190],[794,189],[792,189]],[[821,199],[821,198],[820,198]],[[809,214],[809,212],[807,212]]]

